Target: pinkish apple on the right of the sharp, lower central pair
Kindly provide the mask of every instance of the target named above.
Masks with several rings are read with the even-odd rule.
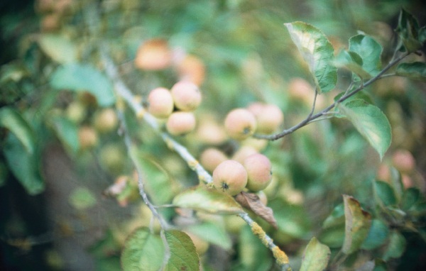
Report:
[[[253,192],[265,189],[271,183],[271,161],[261,153],[250,155],[244,160],[247,170],[247,188]]]

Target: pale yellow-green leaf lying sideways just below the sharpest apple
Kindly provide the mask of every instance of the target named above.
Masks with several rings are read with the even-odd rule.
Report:
[[[233,197],[204,184],[178,194],[173,199],[173,205],[212,214],[239,214],[243,211]]]

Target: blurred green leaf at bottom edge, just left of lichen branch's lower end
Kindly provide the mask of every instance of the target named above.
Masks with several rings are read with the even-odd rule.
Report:
[[[251,232],[249,226],[241,228],[238,246],[239,260],[248,271],[268,271],[273,265],[273,258],[261,240]]]

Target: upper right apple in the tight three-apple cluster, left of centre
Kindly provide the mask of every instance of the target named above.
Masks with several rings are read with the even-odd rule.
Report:
[[[201,92],[197,85],[190,81],[180,81],[173,85],[170,92],[175,106],[182,111],[193,111],[201,104]]]

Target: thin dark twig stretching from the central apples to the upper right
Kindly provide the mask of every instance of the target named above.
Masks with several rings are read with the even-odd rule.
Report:
[[[376,74],[376,76],[372,77],[364,84],[361,84],[361,86],[357,87],[353,92],[345,93],[342,97],[340,97],[339,100],[335,101],[334,104],[329,105],[326,109],[323,109],[322,111],[320,111],[319,113],[315,115],[313,115],[311,111],[311,113],[307,116],[307,118],[305,118],[303,121],[300,121],[300,123],[297,123],[295,126],[288,128],[286,130],[283,130],[280,133],[275,133],[273,135],[253,135],[253,137],[259,138],[259,139],[266,139],[266,140],[277,140],[279,138],[283,138],[284,136],[287,136],[290,133],[293,133],[294,131],[302,128],[303,126],[306,126],[308,123],[312,122],[316,118],[320,118],[320,116],[324,116],[325,114],[327,114],[328,111],[334,109],[334,107],[337,106],[337,104],[341,103],[342,101],[345,101],[346,99],[349,99],[351,96],[354,96],[356,93],[360,92],[362,89],[365,89],[370,84],[373,84],[373,82],[376,82],[378,79],[387,77],[387,76],[384,76],[383,74],[387,72],[389,69],[391,69],[391,67],[396,65],[398,62],[400,62],[400,60],[403,60],[404,57],[407,57],[408,55],[409,55],[408,52],[403,55],[400,55],[400,57],[396,58],[392,62],[389,62],[389,64],[386,67],[384,67],[383,70],[381,70],[381,72]],[[317,96],[316,90],[315,90],[315,96]],[[312,109],[313,109],[313,106],[312,106]]]

